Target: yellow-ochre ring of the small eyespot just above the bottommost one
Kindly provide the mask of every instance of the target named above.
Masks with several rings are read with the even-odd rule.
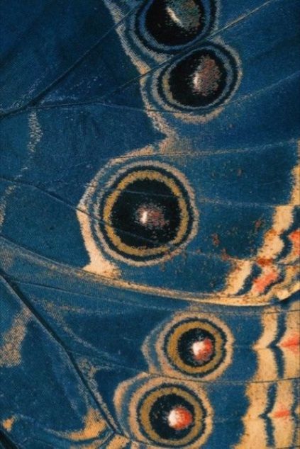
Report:
[[[206,363],[206,365],[200,365],[200,366],[190,366],[187,365],[187,363],[184,363],[182,358],[179,355],[178,351],[178,341],[180,337],[185,334],[185,332],[195,329],[195,328],[201,328],[204,329],[204,331],[208,331],[210,334],[213,335],[213,338],[215,339],[214,345],[215,345],[215,356],[211,359],[209,363]],[[214,367],[218,366],[221,359],[224,356],[224,346],[225,341],[223,340],[223,336],[221,335],[221,332],[216,329],[215,326],[207,323],[202,322],[201,320],[193,320],[191,322],[186,322],[179,324],[177,328],[172,331],[172,334],[169,336],[167,341],[167,355],[169,356],[170,360],[172,360],[172,363],[182,370],[184,373],[196,375],[196,374],[205,374],[208,371],[211,371]]]

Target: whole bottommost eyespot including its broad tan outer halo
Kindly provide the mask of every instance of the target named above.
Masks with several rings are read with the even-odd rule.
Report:
[[[199,449],[213,428],[213,409],[196,382],[143,373],[118,385],[113,403],[123,431],[142,445]]]

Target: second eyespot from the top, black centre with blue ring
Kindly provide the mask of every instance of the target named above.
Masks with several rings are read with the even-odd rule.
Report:
[[[238,69],[223,47],[205,45],[177,59],[157,80],[159,96],[172,108],[207,110],[221,105],[233,92]]]

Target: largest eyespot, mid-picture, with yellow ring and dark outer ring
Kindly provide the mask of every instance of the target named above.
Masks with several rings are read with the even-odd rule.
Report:
[[[156,263],[187,242],[194,208],[183,177],[158,164],[145,164],[121,171],[106,186],[99,217],[113,256],[133,264]]]

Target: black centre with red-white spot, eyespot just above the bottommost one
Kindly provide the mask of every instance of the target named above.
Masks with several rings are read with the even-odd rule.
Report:
[[[206,365],[215,355],[213,335],[199,327],[184,332],[177,344],[180,358],[189,366]]]

